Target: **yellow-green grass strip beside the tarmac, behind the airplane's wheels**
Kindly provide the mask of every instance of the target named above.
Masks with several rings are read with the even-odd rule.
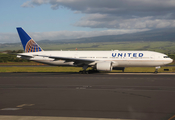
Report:
[[[169,71],[164,71],[169,69]],[[79,72],[81,67],[0,67],[0,72]],[[125,72],[151,73],[154,67],[126,67]],[[121,70],[113,70],[111,72],[122,72]],[[159,72],[175,72],[175,67],[161,67]]]

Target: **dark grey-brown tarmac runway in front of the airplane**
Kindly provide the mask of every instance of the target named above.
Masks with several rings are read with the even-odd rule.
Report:
[[[0,120],[174,120],[174,101],[174,74],[0,73]]]

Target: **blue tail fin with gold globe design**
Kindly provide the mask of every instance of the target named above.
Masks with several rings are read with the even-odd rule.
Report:
[[[43,49],[21,28],[16,28],[25,52],[40,52]]]

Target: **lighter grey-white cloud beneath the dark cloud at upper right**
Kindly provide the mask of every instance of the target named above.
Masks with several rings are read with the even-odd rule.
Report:
[[[174,19],[159,19],[153,16],[122,18],[118,16],[90,14],[75,23],[76,26],[116,29],[154,29],[175,27]]]

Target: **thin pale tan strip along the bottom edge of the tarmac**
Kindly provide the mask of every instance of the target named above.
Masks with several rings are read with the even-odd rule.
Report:
[[[43,117],[43,116],[7,116],[0,115],[1,120],[134,120],[110,118],[83,118],[83,117]]]

